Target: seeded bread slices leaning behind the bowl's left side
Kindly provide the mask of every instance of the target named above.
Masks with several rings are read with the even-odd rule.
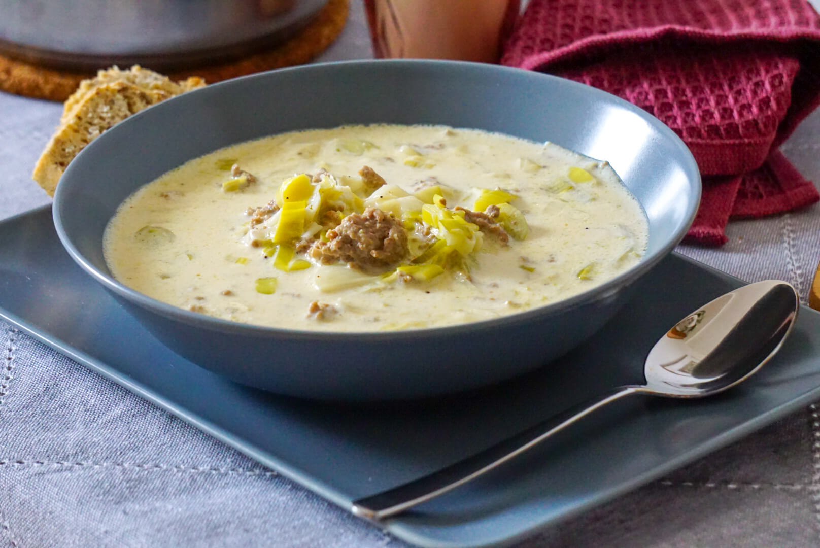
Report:
[[[205,85],[200,78],[173,82],[166,76],[133,66],[114,67],[83,80],[66,100],[61,124],[48,142],[32,178],[49,196],[69,162],[93,139],[116,123],[155,103]]]

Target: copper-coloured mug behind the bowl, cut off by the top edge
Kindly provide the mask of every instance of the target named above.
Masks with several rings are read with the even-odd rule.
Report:
[[[364,0],[376,57],[498,62],[520,0]]]

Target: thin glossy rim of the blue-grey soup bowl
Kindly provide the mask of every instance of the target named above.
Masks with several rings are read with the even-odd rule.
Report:
[[[93,265],[93,263],[91,263],[87,258],[85,258],[82,253],[80,253],[80,250],[77,249],[75,244],[71,241],[71,238],[66,233],[66,230],[63,226],[62,209],[65,207],[64,202],[66,202],[67,199],[65,198],[66,194],[68,193],[67,189],[71,185],[71,174],[73,173],[73,171],[77,169],[77,160],[80,159],[80,162],[84,162],[84,158],[89,157],[90,154],[93,153],[94,150],[96,150],[96,148],[103,146],[100,144],[101,142],[103,142],[104,144],[105,139],[103,135],[98,139],[94,139],[88,146],[86,146],[82,151],[80,151],[77,157],[68,165],[66,171],[63,173],[62,176],[62,179],[67,180],[68,183],[65,184],[63,180],[61,180],[60,184],[57,185],[57,190],[54,194],[54,200],[52,203],[52,218],[54,221],[55,229],[57,231],[57,236],[59,237],[63,247],[66,249],[66,252],[69,253],[69,255],[75,261],[75,263],[77,263],[85,272],[87,272],[96,281],[102,284],[103,287],[105,287],[107,290],[111,291],[114,295],[120,296],[121,298],[126,299],[132,304],[136,304],[140,308],[144,308],[148,311],[157,313],[162,317],[166,317],[174,321],[183,322],[185,324],[188,324],[189,326],[205,328],[210,331],[242,334],[245,336],[255,337],[285,337],[289,339],[328,341],[339,339],[353,339],[362,342],[377,342],[385,340],[415,339],[419,337],[429,337],[434,335],[449,337],[467,332],[494,330],[498,327],[510,327],[517,324],[530,323],[539,317],[549,317],[557,313],[563,313],[568,309],[578,308],[585,304],[589,304],[596,300],[602,299],[607,295],[613,295],[617,292],[617,290],[623,289],[626,285],[629,285],[638,277],[643,276],[646,272],[649,272],[649,270],[652,267],[654,267],[655,264],[659,263],[661,259],[663,259],[668,253],[670,253],[672,249],[676,246],[676,244],[680,243],[680,241],[686,235],[686,231],[689,230],[692,221],[695,220],[695,215],[698,211],[698,206],[700,203],[700,197],[702,193],[702,181],[700,177],[700,171],[697,162],[695,162],[694,156],[692,155],[686,144],[684,144],[681,138],[678,135],[676,135],[674,131],[672,131],[668,126],[663,124],[662,121],[658,120],[658,118],[652,116],[651,114],[649,114],[649,112],[646,112],[644,109],[637,107],[634,104],[629,103],[628,101],[619,98],[613,94],[609,94],[601,89],[597,89],[586,84],[581,84],[573,80],[567,80],[559,76],[545,74],[539,71],[528,71],[525,69],[513,68],[508,66],[490,65],[477,62],[461,62],[432,59],[367,59],[344,62],[314,63],[311,65],[303,66],[292,66],[282,69],[276,69],[273,71],[264,71],[251,75],[244,75],[238,78],[217,82],[215,84],[208,84],[203,88],[194,89],[185,94],[181,94],[173,98],[166,99],[165,101],[162,101],[162,103],[157,103],[151,107],[144,109],[143,111],[137,112],[136,114],[129,116],[125,121],[120,122],[115,127],[112,127],[112,129],[107,130],[105,133],[108,133],[109,131],[121,131],[122,127],[129,127],[131,124],[134,123],[135,120],[139,120],[141,116],[145,116],[145,114],[149,111],[155,112],[156,110],[175,108],[175,104],[179,104],[180,101],[184,101],[185,97],[189,96],[189,94],[230,93],[229,90],[232,86],[238,85],[240,82],[244,82],[244,80],[265,80],[267,78],[275,78],[275,75],[277,74],[285,74],[291,72],[305,72],[309,74],[312,71],[344,70],[348,67],[355,68],[357,66],[403,66],[405,70],[422,71],[426,70],[426,67],[443,67],[445,70],[458,69],[462,71],[485,71],[487,73],[499,74],[508,73],[516,75],[515,77],[517,78],[529,78],[533,80],[539,79],[544,81],[560,80],[563,85],[577,87],[580,93],[592,94],[593,97],[599,96],[601,98],[606,98],[608,102],[613,102],[617,106],[624,108],[626,111],[631,112],[636,116],[639,116],[643,121],[648,123],[649,126],[652,126],[654,130],[657,130],[658,133],[663,135],[664,138],[668,139],[670,144],[673,144],[676,148],[679,149],[679,151],[681,152],[680,158],[684,164],[682,167],[684,167],[685,171],[691,171],[691,173],[694,174],[694,179],[687,176],[687,180],[690,182],[690,186],[692,187],[692,190],[694,190],[694,193],[690,201],[689,210],[686,212],[686,217],[681,222],[681,226],[677,227],[676,231],[674,231],[674,233],[672,234],[672,237],[669,238],[665,244],[663,244],[660,248],[656,249],[653,253],[645,254],[641,258],[639,263],[636,263],[631,268],[627,269],[625,272],[622,272],[617,276],[614,276],[613,278],[604,281],[604,283],[602,284],[595,285],[594,287],[591,287],[588,290],[582,291],[577,295],[572,295],[567,299],[561,299],[556,302],[544,304],[535,308],[530,308],[522,312],[507,314],[502,317],[494,317],[476,322],[464,322],[445,326],[421,327],[394,331],[310,331],[300,329],[288,329],[284,327],[266,327],[251,323],[234,322],[232,320],[206,316],[201,313],[194,313],[189,310],[185,310],[184,308],[179,308],[173,304],[164,303],[160,300],[154,299],[153,297],[144,295],[143,293],[140,293],[137,290],[131,289],[127,285],[122,284],[120,281],[116,281],[116,279],[113,276],[108,276],[105,272],[100,271],[97,267]],[[230,145],[232,144],[225,144],[225,146]],[[91,152],[89,153],[88,151]],[[688,170],[686,168],[688,168]],[[75,183],[75,185],[76,184],[80,183]],[[643,206],[641,206],[641,208],[643,209]]]

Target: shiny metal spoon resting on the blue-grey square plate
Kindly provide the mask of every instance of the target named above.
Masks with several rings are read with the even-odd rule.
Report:
[[[438,472],[354,500],[353,514],[379,520],[420,505],[626,395],[701,398],[727,390],[757,372],[780,349],[798,309],[797,292],[785,281],[758,281],[722,295],[677,322],[658,340],[646,357],[645,384],[622,386]]]

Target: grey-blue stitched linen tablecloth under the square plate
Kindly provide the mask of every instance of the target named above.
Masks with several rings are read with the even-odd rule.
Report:
[[[370,57],[359,2],[320,61]],[[0,219],[49,202],[30,180],[61,107],[0,94]],[[783,146],[820,180],[820,112]],[[679,250],[807,295],[820,207],[731,223]],[[34,296],[32,297],[34,298]],[[0,545],[406,546],[0,322]],[[519,546],[820,546],[820,407]]]

